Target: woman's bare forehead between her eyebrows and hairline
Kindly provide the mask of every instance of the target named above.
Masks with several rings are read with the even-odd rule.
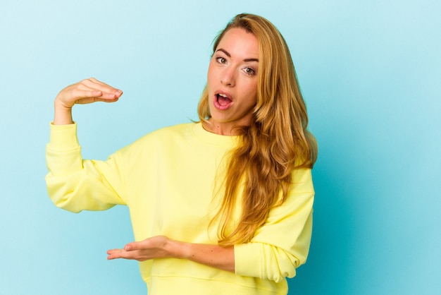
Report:
[[[231,56],[243,59],[259,59],[259,40],[242,28],[232,28],[225,32],[216,48],[226,50]]]

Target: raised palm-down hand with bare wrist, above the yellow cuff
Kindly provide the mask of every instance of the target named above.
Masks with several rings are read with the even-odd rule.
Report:
[[[72,107],[74,104],[116,102],[121,95],[123,95],[121,90],[95,78],[89,78],[70,85],[61,90],[56,96],[54,124],[73,124]]]

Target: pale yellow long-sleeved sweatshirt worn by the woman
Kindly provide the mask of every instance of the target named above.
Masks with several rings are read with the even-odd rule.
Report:
[[[181,124],[98,161],[82,159],[76,127],[51,124],[46,183],[57,207],[80,212],[128,205],[137,241],[164,235],[217,243],[217,229],[209,227],[218,208],[214,181],[237,137]],[[285,203],[271,210],[250,243],[235,245],[235,273],[175,258],[139,263],[149,295],[287,294],[286,277],[294,277],[309,252],[313,195],[311,170],[294,171]]]

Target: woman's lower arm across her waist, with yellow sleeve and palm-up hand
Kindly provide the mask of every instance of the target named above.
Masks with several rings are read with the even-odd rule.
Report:
[[[285,277],[294,277],[296,267],[306,261],[311,242],[313,196],[311,169],[299,169],[293,172],[292,188],[285,203],[271,210],[266,224],[249,243],[224,248],[154,236],[128,243],[124,249],[109,250],[108,259],[182,258],[237,275],[280,282]]]

